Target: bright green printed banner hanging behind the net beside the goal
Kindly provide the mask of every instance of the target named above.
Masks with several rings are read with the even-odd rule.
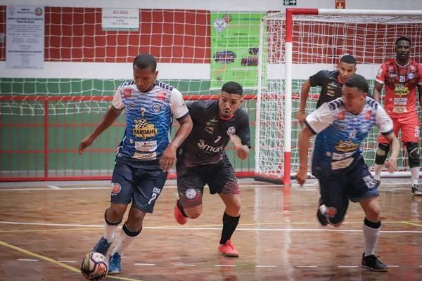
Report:
[[[211,88],[257,87],[260,19],[266,13],[211,13]]]

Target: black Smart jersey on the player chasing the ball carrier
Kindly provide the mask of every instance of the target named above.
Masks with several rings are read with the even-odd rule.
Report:
[[[218,163],[223,159],[229,134],[236,134],[250,147],[249,118],[239,108],[231,119],[219,118],[218,100],[198,100],[188,106],[193,121],[191,134],[181,145],[186,166]]]

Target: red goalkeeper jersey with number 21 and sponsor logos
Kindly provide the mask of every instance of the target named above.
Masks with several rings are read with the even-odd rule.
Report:
[[[422,85],[422,65],[409,60],[405,66],[396,60],[388,60],[378,70],[375,79],[385,84],[385,111],[392,116],[404,116],[416,112],[417,84]]]

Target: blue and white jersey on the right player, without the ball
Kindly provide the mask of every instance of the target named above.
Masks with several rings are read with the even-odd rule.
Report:
[[[361,155],[360,144],[373,126],[381,133],[392,133],[392,120],[383,107],[366,97],[362,112],[354,115],[345,110],[343,98],[324,103],[305,119],[309,129],[317,133],[312,168],[345,169]]]

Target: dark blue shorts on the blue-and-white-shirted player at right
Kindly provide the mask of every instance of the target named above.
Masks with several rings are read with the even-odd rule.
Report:
[[[321,185],[321,200],[327,207],[330,223],[343,221],[349,200],[356,203],[369,197],[378,196],[376,183],[362,156],[341,171],[327,171],[312,167],[312,174]]]

